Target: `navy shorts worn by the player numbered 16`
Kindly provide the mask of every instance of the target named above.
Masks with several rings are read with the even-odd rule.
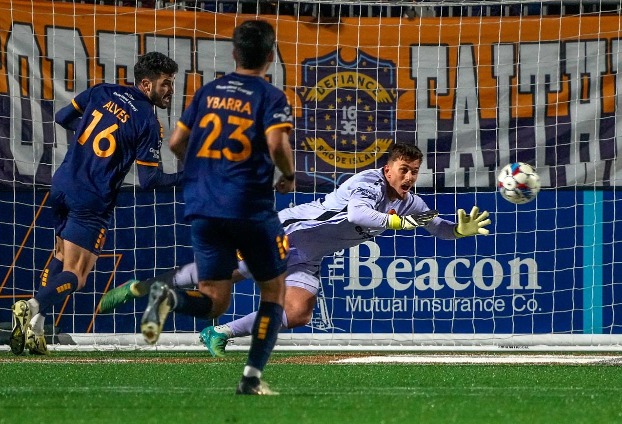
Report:
[[[54,187],[50,190],[50,201],[56,235],[100,256],[112,213],[87,209]]]

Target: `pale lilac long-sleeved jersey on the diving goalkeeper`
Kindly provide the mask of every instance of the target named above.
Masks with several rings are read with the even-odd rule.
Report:
[[[417,195],[389,200],[383,168],[348,178],[325,198],[279,212],[279,219],[300,262],[312,262],[356,246],[386,231],[388,213],[398,215],[429,210]],[[436,217],[425,228],[442,239],[455,239],[455,223]],[[292,252],[294,253],[294,252]]]

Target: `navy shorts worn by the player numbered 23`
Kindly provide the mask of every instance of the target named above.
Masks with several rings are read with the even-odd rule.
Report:
[[[267,218],[192,218],[192,247],[198,280],[228,280],[238,268],[236,250],[257,281],[272,280],[287,270],[289,244],[274,213]]]

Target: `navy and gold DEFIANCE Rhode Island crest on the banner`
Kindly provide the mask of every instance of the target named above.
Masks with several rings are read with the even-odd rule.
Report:
[[[395,64],[361,50],[351,59],[341,52],[302,62],[299,95],[305,125],[299,138],[326,170],[361,170],[375,165],[393,141]]]

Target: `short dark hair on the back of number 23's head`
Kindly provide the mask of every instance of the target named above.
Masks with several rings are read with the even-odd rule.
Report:
[[[233,30],[233,51],[238,66],[259,69],[274,49],[274,29],[266,21],[246,21]]]

